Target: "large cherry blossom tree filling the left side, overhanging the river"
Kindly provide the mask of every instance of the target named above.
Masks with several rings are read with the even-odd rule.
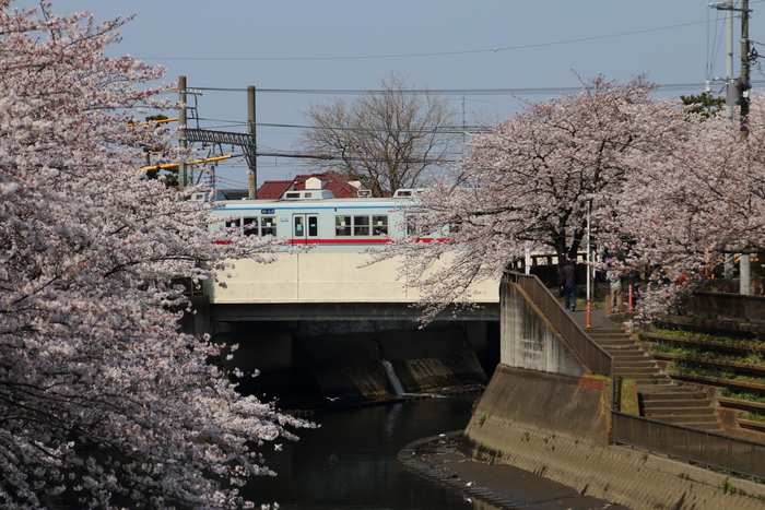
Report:
[[[96,25],[49,4],[0,0],[0,506],[249,506],[272,474],[263,441],[305,422],[239,396],[209,364],[220,348],[176,331],[181,290],[268,251],[215,244],[209,206],[146,179],[130,126],[163,69],[103,49],[126,20]]]

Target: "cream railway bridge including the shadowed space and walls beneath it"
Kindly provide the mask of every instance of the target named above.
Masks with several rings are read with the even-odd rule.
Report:
[[[386,363],[410,392],[485,383],[498,361],[498,281],[473,289],[480,308],[446,310],[420,330],[411,305],[421,295],[396,278],[400,260],[364,266],[368,257],[308,251],[269,264],[236,261],[219,275],[225,286],[208,284],[207,306],[188,319],[204,322],[214,342],[238,345],[232,366],[259,371],[240,381],[245,392],[385,395],[392,391]]]

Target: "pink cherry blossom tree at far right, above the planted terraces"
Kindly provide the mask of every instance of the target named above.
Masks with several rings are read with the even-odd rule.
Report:
[[[693,134],[631,169],[625,191],[599,211],[601,240],[628,250],[625,268],[662,271],[669,280],[640,304],[645,320],[680,306],[723,253],[765,248],[763,96],[752,100],[744,142],[719,114],[692,112],[686,123]]]

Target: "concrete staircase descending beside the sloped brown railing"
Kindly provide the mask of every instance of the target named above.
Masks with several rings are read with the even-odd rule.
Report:
[[[605,329],[589,330],[587,334],[613,356],[614,377],[635,380],[643,416],[722,431],[722,424],[706,392],[676,386],[669,376],[660,372],[654,357],[640,349],[632,334]]]

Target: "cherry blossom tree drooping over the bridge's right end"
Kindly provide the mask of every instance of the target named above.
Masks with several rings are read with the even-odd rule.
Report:
[[[650,98],[655,88],[644,76],[597,78],[474,135],[468,158],[410,211],[412,234],[374,260],[405,256],[401,273],[422,287],[428,320],[450,303],[469,304],[471,284],[498,278],[527,249],[575,258],[588,204],[620,193],[629,171],[688,137],[683,109]],[[444,239],[419,241],[427,233]]]

